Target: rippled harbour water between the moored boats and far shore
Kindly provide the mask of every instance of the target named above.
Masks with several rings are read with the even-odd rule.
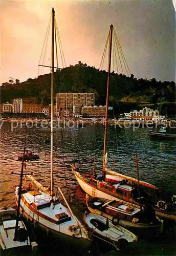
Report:
[[[78,131],[71,131],[68,127],[56,128],[54,131],[55,185],[58,184],[62,188],[65,196],[73,196],[78,183],[70,170],[70,163],[76,163],[80,169],[92,172],[95,158],[96,171],[101,172],[104,126],[86,124]],[[20,172],[21,162],[17,161],[17,155],[23,152],[25,140],[27,147],[40,156],[38,161],[27,162],[26,173],[33,172],[37,180],[49,185],[50,144],[45,144],[45,139],[49,137],[50,130],[47,128],[28,129],[24,125],[22,129],[17,127],[11,131],[10,123],[3,124],[1,129],[1,207],[15,206],[13,186],[18,183],[19,176],[11,175],[11,172]],[[107,152],[110,166],[113,166],[115,159],[115,170],[133,177],[137,177],[134,162],[137,152],[140,179],[159,186],[165,199],[176,195],[175,140],[153,140],[147,128],[133,131],[133,127],[115,130],[114,126],[110,126]],[[171,239],[173,239],[172,235]]]

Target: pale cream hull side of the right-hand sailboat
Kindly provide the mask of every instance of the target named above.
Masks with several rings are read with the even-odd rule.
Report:
[[[90,195],[91,197],[99,197],[99,198],[104,198],[104,199],[108,199],[108,200],[115,200],[118,197],[113,195],[109,195],[109,191],[107,190],[107,192],[102,191],[100,188],[96,187],[95,184],[91,184],[89,182],[89,180],[85,180],[83,176],[81,176],[80,173],[76,172],[75,170],[73,170],[75,177],[80,185],[80,187],[85,191],[86,194]],[[113,172],[113,171],[112,171]],[[127,202],[126,200],[122,200],[120,198],[118,198],[118,200],[120,202]],[[130,202],[131,205],[140,207],[139,204],[137,203],[132,203]],[[159,216],[160,218],[164,218],[164,219],[170,219],[173,221],[176,221],[176,215],[172,214],[170,212],[165,212],[165,211],[160,211],[158,207],[153,207],[155,209],[156,215]]]

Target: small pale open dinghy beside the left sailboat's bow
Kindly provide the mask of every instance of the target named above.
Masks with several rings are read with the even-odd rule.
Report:
[[[134,233],[119,225],[113,225],[111,221],[100,215],[85,212],[83,220],[89,227],[90,234],[98,236],[118,249],[123,249],[128,243],[138,240]]]

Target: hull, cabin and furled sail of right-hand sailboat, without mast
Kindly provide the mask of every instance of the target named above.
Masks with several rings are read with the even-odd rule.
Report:
[[[91,197],[109,201],[118,199],[122,203],[129,202],[132,206],[140,208],[137,179],[116,173],[108,168],[105,168],[104,177],[98,175],[96,178],[95,175],[81,172],[75,165],[72,165],[72,170],[81,188]],[[140,180],[141,203],[152,206],[160,218],[176,221],[175,197],[172,196],[170,202],[165,202],[157,196],[151,196],[146,191],[148,189],[155,194],[154,190],[157,190],[158,187]]]

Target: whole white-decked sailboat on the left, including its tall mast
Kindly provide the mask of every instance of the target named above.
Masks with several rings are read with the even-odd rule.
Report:
[[[54,116],[54,35],[55,11],[52,9],[52,71],[51,71],[51,180],[50,186],[44,187],[33,176],[26,175],[32,183],[23,186],[21,190],[20,212],[35,228],[46,231],[51,239],[69,241],[72,245],[85,248],[90,245],[89,234],[73,214],[61,189],[58,187],[67,207],[61,204],[54,194],[53,176],[53,116]],[[34,188],[35,187],[37,188]],[[15,186],[15,198],[18,200],[19,186]]]

